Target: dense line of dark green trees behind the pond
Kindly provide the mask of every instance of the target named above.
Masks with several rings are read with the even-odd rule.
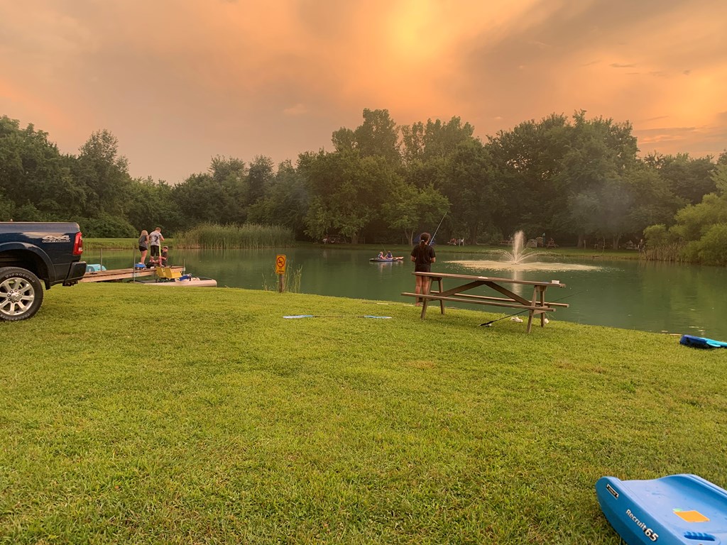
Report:
[[[616,248],[646,232],[651,246],[676,244],[680,255],[713,225],[727,229],[727,152],[642,158],[630,123],[584,111],[524,121],[486,142],[473,133],[459,117],[398,126],[387,110],[366,109],[360,126],[332,134],[332,151],[277,166],[217,156],[208,171],[169,185],[131,177],[106,130],[70,155],[3,116],[0,218],[74,220],[91,237],[253,222],[289,227],[300,240],[411,243],[446,214],[440,240],[492,243],[524,230]]]

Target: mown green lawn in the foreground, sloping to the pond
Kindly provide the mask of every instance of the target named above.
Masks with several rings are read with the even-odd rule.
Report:
[[[55,287],[0,323],[0,543],[616,545],[599,477],[727,486],[727,350],[499,316]]]

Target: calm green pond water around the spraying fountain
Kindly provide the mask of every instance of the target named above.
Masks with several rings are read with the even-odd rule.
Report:
[[[276,254],[286,254],[288,273],[300,267],[302,293],[412,302],[411,297],[401,296],[402,291],[414,291],[411,262],[369,262],[369,257],[374,256],[368,250],[340,247],[174,250],[171,257],[174,265],[183,264],[194,275],[215,278],[218,286],[263,289],[267,285],[274,289]],[[138,259],[138,253],[136,257]],[[113,269],[130,267],[133,256],[131,251],[107,250],[103,254],[86,251],[84,259],[89,263],[103,259],[103,265]],[[562,299],[570,307],[558,308],[549,315],[553,320],[727,340],[727,323],[722,319],[720,307],[727,285],[725,267],[608,261],[592,257],[561,259],[560,264],[547,257],[535,257],[534,260],[541,263],[502,270],[499,264],[487,261],[482,254],[440,252],[433,270],[521,280],[560,280],[567,287],[550,289],[547,299]],[[531,296],[531,290],[525,286],[517,287],[520,288],[520,291],[515,290],[518,294]],[[451,306],[467,307],[455,303]],[[469,307],[497,313],[497,307]],[[502,314],[513,312],[503,311]]]

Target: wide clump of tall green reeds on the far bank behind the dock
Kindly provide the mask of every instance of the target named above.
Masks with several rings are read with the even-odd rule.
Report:
[[[203,223],[174,237],[177,248],[233,249],[292,246],[292,230],[280,225]]]

